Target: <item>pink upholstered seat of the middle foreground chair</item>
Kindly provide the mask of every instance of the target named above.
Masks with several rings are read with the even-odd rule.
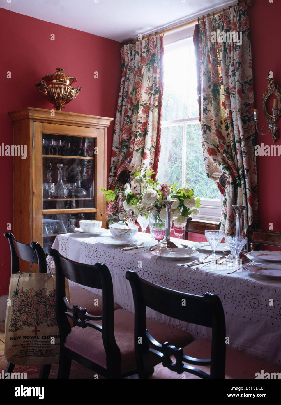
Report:
[[[101,321],[96,323],[101,324]],[[147,320],[149,333],[160,343],[168,341],[177,347],[184,347],[192,341],[189,333],[182,330],[172,329],[159,322]],[[121,373],[136,370],[136,360],[134,354],[134,314],[117,309],[114,312],[114,333],[117,345],[121,351]],[[106,355],[102,342],[102,333],[93,328],[72,328],[66,337],[65,347],[80,354],[81,356],[99,364],[106,369]],[[152,359],[153,357],[153,359]],[[157,364],[160,358],[151,356],[153,364]]]

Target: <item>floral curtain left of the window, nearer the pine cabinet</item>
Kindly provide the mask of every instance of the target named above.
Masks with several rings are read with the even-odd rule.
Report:
[[[163,95],[163,36],[121,48],[122,78],[120,84],[109,188],[118,184],[121,172],[130,174],[137,167],[157,173],[160,154]],[[131,177],[132,179],[132,177]],[[119,218],[123,198],[107,203],[109,223]]]

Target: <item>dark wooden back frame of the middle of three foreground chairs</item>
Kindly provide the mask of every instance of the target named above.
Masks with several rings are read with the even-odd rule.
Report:
[[[99,262],[94,266],[74,262],[62,256],[56,249],[49,249],[48,253],[53,256],[55,262],[55,308],[60,330],[61,350],[63,350],[66,336],[71,332],[71,326],[67,320],[67,318],[71,318],[74,326],[82,328],[90,326],[102,333],[106,353],[106,369],[109,371],[114,367],[114,364],[116,366],[118,363],[120,363],[121,369],[121,354],[114,335],[113,285],[108,267]],[[86,308],[81,308],[78,305],[71,307],[66,298],[65,279],[102,290],[102,316],[90,315]],[[95,324],[94,320],[102,320],[102,326]]]

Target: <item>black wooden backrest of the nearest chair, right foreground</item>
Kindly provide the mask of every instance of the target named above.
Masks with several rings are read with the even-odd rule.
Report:
[[[126,279],[130,281],[134,297],[135,354],[140,378],[147,377],[145,364],[149,352],[160,356],[163,365],[177,373],[188,371],[201,378],[225,378],[226,326],[219,297],[211,293],[196,296],[169,290],[141,279],[133,271],[126,272]],[[163,345],[157,342],[146,328],[146,307],[177,320],[212,328],[211,359],[190,358],[183,355],[181,348],[171,346],[168,342]],[[140,337],[142,344],[139,344]],[[176,363],[171,362],[171,355],[175,356]],[[183,362],[193,365],[211,364],[210,375],[195,367],[183,365]]]

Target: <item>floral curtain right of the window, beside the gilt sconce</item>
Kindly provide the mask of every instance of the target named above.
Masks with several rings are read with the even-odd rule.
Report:
[[[230,36],[232,32],[232,36]],[[233,34],[235,32],[235,34]],[[228,33],[228,35],[227,35]],[[228,40],[228,39],[232,40]],[[253,72],[247,6],[233,6],[196,26],[198,98],[207,176],[226,181],[222,228],[234,232],[237,189],[243,190],[242,232],[257,221]]]

